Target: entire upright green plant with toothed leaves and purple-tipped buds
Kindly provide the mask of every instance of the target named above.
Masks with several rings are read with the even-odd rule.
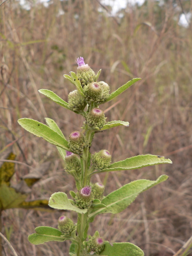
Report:
[[[133,170],[154,164],[172,163],[172,161],[165,159],[164,156],[139,155],[111,164],[111,155],[106,149],[91,155],[90,148],[96,132],[119,125],[129,126],[129,123],[125,121],[106,122],[104,112],[99,105],[114,99],[140,78],[130,80],[109,94],[109,85],[103,81],[97,82],[101,70],[95,75],[88,64],[84,63],[82,57],[77,59],[77,64],[76,74],[70,72],[71,76],[64,75],[76,86],[76,90],[68,95],[68,103],[50,90],[41,89],[39,92],[60,106],[84,116],[85,121],[82,127],[84,133],[74,131],[69,135],[69,140],[66,140],[58,125],[50,118],[45,118],[47,125],[28,118],[18,120],[24,129],[57,146],[65,161],[65,171],[76,181],[77,192],[70,191],[73,200],[68,199],[64,192],[56,192],[50,197],[49,206],[60,210],[75,211],[77,223],[75,224],[73,220],[62,215],[58,220],[58,229],[46,226],[37,227],[36,233],[29,235],[28,240],[32,244],[70,240],[69,255],[71,256],[90,255],[92,252],[94,253],[92,255],[143,256],[143,251],[134,244],[113,243],[111,246],[100,236],[99,231],[95,231],[93,236],[88,235],[89,224],[98,214],[122,212],[141,192],[166,180],[168,176],[161,175],[157,180],[132,181],[106,197],[104,185],[99,182],[92,184],[90,179],[95,173]]]

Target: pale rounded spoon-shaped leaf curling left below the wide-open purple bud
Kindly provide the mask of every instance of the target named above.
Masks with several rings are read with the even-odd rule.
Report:
[[[49,206],[58,210],[70,210],[78,213],[87,212],[87,209],[80,209],[72,204],[67,198],[67,194],[64,192],[56,192],[52,194],[49,199]]]

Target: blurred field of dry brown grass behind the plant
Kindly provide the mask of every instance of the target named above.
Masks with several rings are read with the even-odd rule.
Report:
[[[81,116],[38,92],[50,89],[68,101],[74,87],[63,74],[76,72],[77,57],[83,56],[95,72],[102,68],[100,80],[111,92],[141,77],[114,101],[101,105],[107,121],[129,121],[130,126],[96,134],[92,152],[107,149],[113,161],[150,153],[173,164],[103,173],[92,181],[103,182],[108,194],[132,180],[155,180],[164,173],[169,180],[144,192],[124,212],[99,215],[90,234],[98,229],[108,241],[134,243],[146,256],[173,255],[192,235],[192,27],[178,25],[180,3],[184,11],[191,10],[192,3],[176,1],[176,8],[172,1],[162,7],[148,1],[123,10],[123,18],[111,17],[95,0],[54,0],[49,7],[29,3],[29,10],[16,0],[0,6],[0,150],[16,140],[17,161],[33,167],[52,162],[34,185],[31,199],[57,191],[69,194],[75,182],[63,171],[56,147],[24,131],[17,120],[28,117],[45,123],[50,117],[66,138],[81,127]],[[15,168],[13,182],[29,172],[21,164]],[[7,236],[5,227],[12,230],[10,242],[19,256],[68,255],[68,242],[35,246],[27,239],[37,226],[57,227],[61,212],[13,209],[2,215],[2,233]],[[75,213],[67,215],[76,221]],[[3,245],[3,255],[13,255]]]

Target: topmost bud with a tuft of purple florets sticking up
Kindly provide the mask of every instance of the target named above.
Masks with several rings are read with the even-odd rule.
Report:
[[[82,87],[88,83],[94,82],[95,72],[92,70],[92,68],[89,67],[88,64],[84,63],[83,57],[78,58],[76,62],[78,64],[76,75],[78,76]]]

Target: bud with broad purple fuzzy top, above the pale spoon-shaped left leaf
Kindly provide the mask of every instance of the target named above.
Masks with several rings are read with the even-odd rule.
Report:
[[[84,208],[91,206],[94,200],[91,186],[86,186],[79,190],[76,194],[75,201],[76,205]]]

